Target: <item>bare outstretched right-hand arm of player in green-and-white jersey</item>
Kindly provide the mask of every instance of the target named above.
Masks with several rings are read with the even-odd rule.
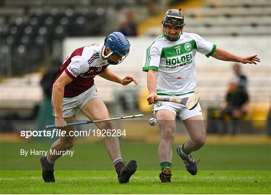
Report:
[[[223,61],[232,61],[232,62],[241,62],[243,64],[257,64],[256,62],[260,62],[260,59],[257,57],[257,55],[253,56],[247,56],[247,57],[240,57],[236,56],[234,54],[231,54],[230,52],[226,50],[222,50],[219,48],[216,48],[215,52],[213,53],[212,57],[223,60]]]

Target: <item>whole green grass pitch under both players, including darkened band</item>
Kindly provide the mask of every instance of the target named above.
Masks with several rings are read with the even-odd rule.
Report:
[[[56,182],[45,183],[39,157],[23,157],[19,151],[47,149],[50,145],[51,142],[1,143],[0,192],[271,193],[270,145],[205,145],[193,152],[195,159],[201,159],[195,176],[185,171],[174,145],[172,183],[161,183],[158,144],[121,142],[123,159],[138,161],[138,171],[127,184],[118,183],[104,143],[75,144],[73,157],[58,160]]]

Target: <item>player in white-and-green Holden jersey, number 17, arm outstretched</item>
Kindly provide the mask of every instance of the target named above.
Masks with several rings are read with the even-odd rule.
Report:
[[[147,101],[154,105],[154,115],[161,129],[162,139],[158,148],[162,182],[172,178],[172,144],[176,130],[176,116],[184,123],[190,137],[177,147],[177,153],[184,161],[187,171],[197,174],[197,165],[191,152],[200,149],[206,140],[206,131],[200,104],[193,110],[174,102],[156,102],[159,97],[188,97],[196,87],[195,54],[199,52],[207,58],[256,64],[257,55],[239,57],[204,40],[197,34],[184,33],[184,17],[180,10],[168,10],[163,24],[163,33],[146,49],[143,71],[148,72]]]

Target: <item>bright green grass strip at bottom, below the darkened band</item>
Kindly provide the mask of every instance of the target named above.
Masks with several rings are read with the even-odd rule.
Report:
[[[158,171],[139,170],[127,184],[114,171],[56,171],[55,183],[44,183],[40,171],[2,171],[1,193],[270,193],[266,171],[173,171],[172,183],[161,183]]]

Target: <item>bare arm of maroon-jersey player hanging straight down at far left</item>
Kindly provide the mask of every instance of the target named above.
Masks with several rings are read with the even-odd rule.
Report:
[[[64,97],[64,88],[73,80],[64,71],[53,85],[52,97],[55,110],[55,125],[57,128],[67,126],[66,121],[63,119],[62,100]]]

